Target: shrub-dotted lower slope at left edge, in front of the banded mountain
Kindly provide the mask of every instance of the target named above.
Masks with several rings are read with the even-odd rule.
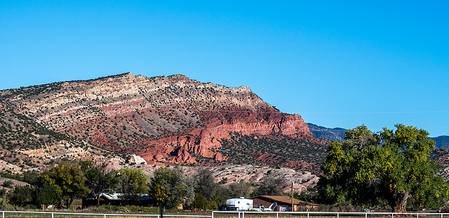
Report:
[[[110,160],[112,155],[62,133],[52,131],[0,102],[0,170],[18,173],[22,168],[46,166],[55,159]]]

